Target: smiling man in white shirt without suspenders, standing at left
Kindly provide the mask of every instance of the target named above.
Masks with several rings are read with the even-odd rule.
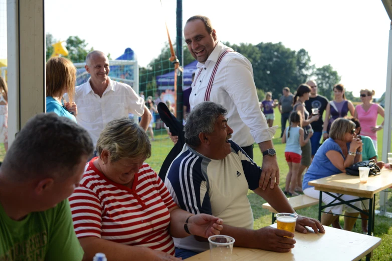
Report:
[[[102,51],[87,54],[86,71],[90,78],[75,88],[75,103],[78,104],[76,120],[90,133],[94,146],[101,130],[117,117],[128,117],[128,113],[141,116],[140,126],[148,128],[151,113],[141,98],[128,84],[111,80],[109,59]]]

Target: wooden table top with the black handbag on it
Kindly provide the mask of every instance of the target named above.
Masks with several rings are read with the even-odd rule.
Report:
[[[382,168],[379,175],[369,176],[366,183],[360,183],[359,176],[340,173],[309,181],[308,184],[316,190],[372,198],[375,193],[392,185],[392,170]]]

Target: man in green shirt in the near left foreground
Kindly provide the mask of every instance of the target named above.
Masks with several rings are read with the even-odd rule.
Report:
[[[0,167],[0,261],[82,260],[67,197],[92,152],[88,132],[66,117],[27,122]]]

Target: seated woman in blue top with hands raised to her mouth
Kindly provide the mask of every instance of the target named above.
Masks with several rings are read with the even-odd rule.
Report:
[[[314,155],[312,164],[304,175],[302,183],[304,194],[318,199],[320,191],[315,190],[314,186],[310,186],[308,184],[309,181],[346,172],[346,167],[361,160],[362,141],[355,137],[354,122],[346,118],[334,120],[329,131],[329,138],[321,144]],[[340,195],[337,193],[333,194],[335,196]],[[358,197],[341,195],[341,198],[348,201]],[[324,204],[331,203],[334,200],[334,197],[323,192],[322,201]],[[352,204],[362,209],[361,201],[352,202]],[[330,225],[345,210],[344,230],[352,229],[359,214],[357,210],[347,205],[335,205],[325,209],[325,212],[321,215],[321,223],[323,225]],[[340,228],[340,225],[337,228]]]

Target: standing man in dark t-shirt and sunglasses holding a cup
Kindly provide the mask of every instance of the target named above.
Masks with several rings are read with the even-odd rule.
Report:
[[[310,138],[310,143],[312,144],[313,158],[314,154],[316,154],[318,147],[320,146],[320,139],[323,130],[322,115],[325,108],[327,107],[328,99],[322,95],[317,94],[317,84],[314,80],[309,80],[308,82],[306,82],[306,84],[308,84],[311,88],[309,99],[305,101],[306,110],[309,112],[309,114],[311,114],[313,112],[312,108],[318,109],[318,113],[320,114],[320,118],[318,120],[310,123],[314,131],[313,136]]]

